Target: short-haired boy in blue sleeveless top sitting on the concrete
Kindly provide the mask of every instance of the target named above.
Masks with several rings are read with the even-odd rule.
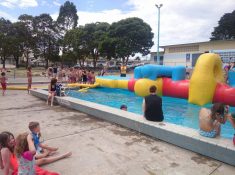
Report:
[[[40,134],[40,125],[38,122],[30,122],[29,130],[31,131],[32,139],[37,152],[36,158],[40,159],[46,157],[49,153],[58,150],[58,148],[49,147],[47,145],[40,143],[39,139],[41,134]]]

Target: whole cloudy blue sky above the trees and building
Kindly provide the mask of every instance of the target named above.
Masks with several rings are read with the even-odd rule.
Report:
[[[17,21],[21,14],[33,16],[49,13],[57,19],[66,0],[0,0],[0,17]],[[157,19],[155,4],[161,8],[160,45],[208,41],[224,13],[235,10],[235,0],[70,0],[78,11],[78,25],[91,22],[116,22],[139,17],[154,33],[151,51],[157,50]]]

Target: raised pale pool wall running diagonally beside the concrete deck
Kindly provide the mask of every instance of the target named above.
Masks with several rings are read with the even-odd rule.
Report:
[[[31,94],[46,100],[48,92],[37,89],[31,90]],[[150,122],[138,114],[72,97],[55,97],[55,102],[235,166],[235,146],[230,139],[205,138],[195,129],[167,122]]]

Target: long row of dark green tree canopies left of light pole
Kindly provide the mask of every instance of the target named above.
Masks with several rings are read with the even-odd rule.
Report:
[[[96,22],[77,27],[76,6],[66,1],[60,8],[56,21],[49,14],[38,16],[22,14],[18,21],[0,18],[0,58],[4,63],[13,57],[18,67],[19,58],[24,55],[26,67],[30,55],[49,62],[72,62],[84,65],[86,59],[96,62],[122,59],[127,63],[135,54],[147,55],[153,46],[151,27],[140,18],[127,18],[111,25]],[[59,48],[63,55],[59,56]]]

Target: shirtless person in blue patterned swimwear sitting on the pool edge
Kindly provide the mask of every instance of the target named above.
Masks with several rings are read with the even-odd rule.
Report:
[[[215,103],[211,110],[202,108],[199,112],[199,134],[204,137],[215,138],[220,135],[221,124],[228,119],[235,128],[235,114],[228,113],[228,106]]]

